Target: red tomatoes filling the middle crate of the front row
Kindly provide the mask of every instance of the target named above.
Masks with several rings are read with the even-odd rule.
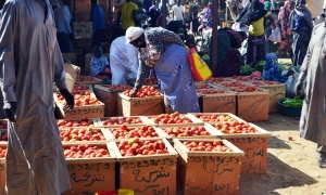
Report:
[[[168,154],[162,140],[140,141],[139,139],[131,139],[118,142],[117,147],[122,156]]]

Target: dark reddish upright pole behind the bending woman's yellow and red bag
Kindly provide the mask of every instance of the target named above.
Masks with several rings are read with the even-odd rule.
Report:
[[[211,52],[211,64],[212,64],[212,72],[214,75],[216,75],[217,70],[217,26],[218,26],[218,1],[220,0],[213,0],[212,6],[213,6],[213,36],[212,36],[212,52]]]

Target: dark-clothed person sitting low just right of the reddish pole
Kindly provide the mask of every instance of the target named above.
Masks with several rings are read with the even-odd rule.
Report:
[[[217,67],[216,77],[240,76],[241,54],[237,49],[230,49]]]

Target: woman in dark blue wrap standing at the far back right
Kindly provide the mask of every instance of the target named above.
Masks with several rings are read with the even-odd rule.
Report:
[[[290,28],[292,30],[292,63],[301,66],[313,30],[312,15],[306,9],[305,0],[297,0],[294,10],[290,13]]]

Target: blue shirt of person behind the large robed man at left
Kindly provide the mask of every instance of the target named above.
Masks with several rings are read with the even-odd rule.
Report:
[[[54,10],[54,20],[55,20],[55,27],[58,28],[58,32],[71,34],[73,16],[71,15],[70,8],[66,5],[58,6]]]

